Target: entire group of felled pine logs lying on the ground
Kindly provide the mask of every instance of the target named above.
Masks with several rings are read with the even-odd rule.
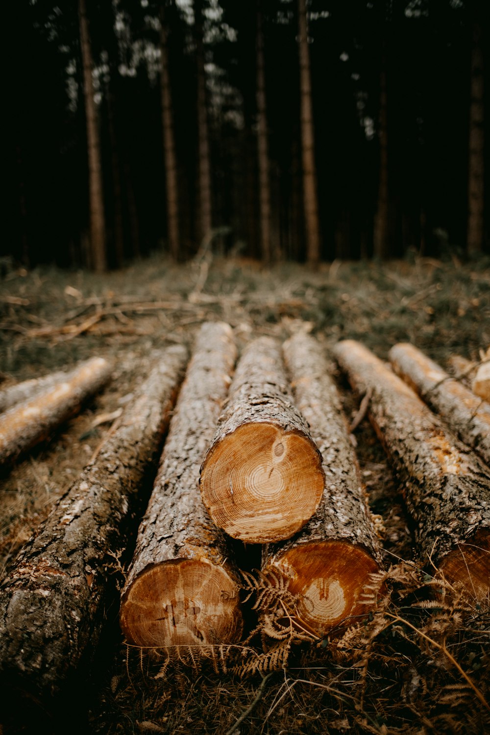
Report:
[[[475,600],[488,597],[490,405],[413,345],[392,348],[391,368],[351,340],[334,355],[353,390],[369,396],[421,563]],[[90,661],[117,598],[113,562],[144,512],[152,467],[120,602],[129,645],[238,642],[237,541],[262,545],[262,574],[287,581],[297,600],[288,614],[303,631],[336,634],[369,612],[363,592],[382,564],[379,520],[320,344],[303,332],[284,345],[259,337],[236,361],[224,323],[201,326],[188,364],[185,348],[162,351],[21,551],[0,586],[0,672],[10,684],[52,695]],[[46,416],[71,415],[109,373],[89,361],[25,387],[34,394],[0,395],[0,461],[45,436]],[[29,416],[39,431],[22,443]]]

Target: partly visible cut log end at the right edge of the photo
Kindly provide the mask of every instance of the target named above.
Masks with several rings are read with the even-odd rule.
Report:
[[[477,603],[490,600],[490,531],[484,529],[472,542],[450,551],[439,570],[457,589],[463,589]]]

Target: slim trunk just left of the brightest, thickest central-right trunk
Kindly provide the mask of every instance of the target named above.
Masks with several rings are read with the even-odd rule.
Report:
[[[262,260],[267,265],[276,259],[270,231],[270,178],[267,142],[267,107],[265,102],[264,35],[262,33],[261,0],[257,3],[257,154],[259,163],[259,209]]]

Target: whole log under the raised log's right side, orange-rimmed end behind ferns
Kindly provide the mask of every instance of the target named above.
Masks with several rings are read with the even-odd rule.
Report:
[[[296,406],[323,457],[317,512],[292,539],[264,548],[262,571],[279,571],[299,597],[298,623],[321,637],[367,614],[362,592],[381,564],[381,548],[361,484],[342,404],[317,340],[295,334],[284,356]]]

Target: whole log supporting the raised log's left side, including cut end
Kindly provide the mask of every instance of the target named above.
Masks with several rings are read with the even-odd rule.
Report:
[[[209,522],[199,495],[199,467],[235,359],[231,328],[203,324],[123,590],[120,627],[132,645],[214,645],[242,633],[228,542]]]

